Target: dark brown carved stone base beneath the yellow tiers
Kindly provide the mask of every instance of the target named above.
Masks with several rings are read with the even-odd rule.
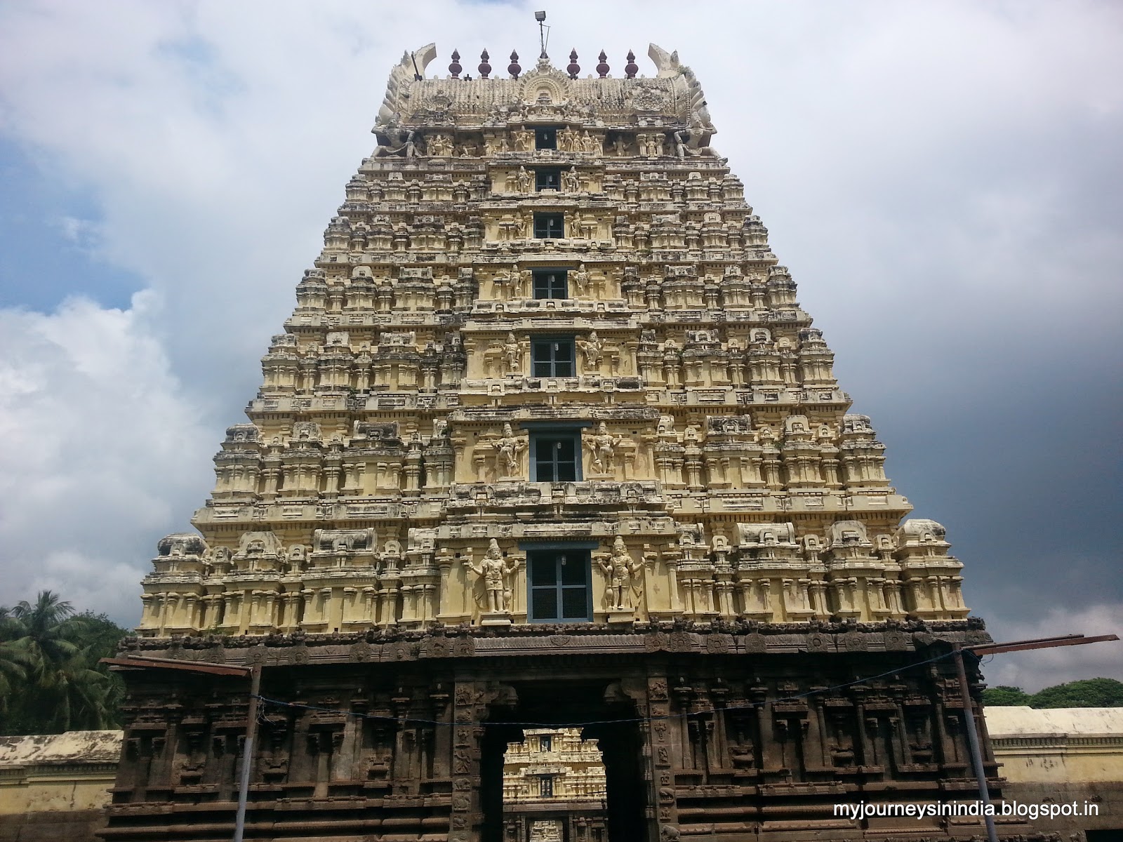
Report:
[[[522,825],[504,830],[503,751],[524,727],[581,723],[603,753],[611,842],[794,842],[979,836],[973,820],[855,821],[834,805],[975,799],[947,653],[986,640],[980,623],[949,621],[460,626],[127,646],[262,665],[247,839],[528,842],[511,838]],[[247,683],[162,668],[124,675],[124,756],[102,838],[229,839]],[[1024,824],[1001,831],[1044,839]]]

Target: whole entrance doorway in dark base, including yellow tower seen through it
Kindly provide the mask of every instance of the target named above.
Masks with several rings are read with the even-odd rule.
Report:
[[[485,726],[483,842],[647,842],[634,703],[603,681],[512,686]]]

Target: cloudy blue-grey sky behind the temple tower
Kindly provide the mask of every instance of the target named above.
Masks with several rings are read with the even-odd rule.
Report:
[[[0,3],[0,604],[139,615],[293,305],[390,67],[530,66],[519,2]],[[836,370],[999,639],[1123,626],[1123,7],[547,6],[691,65]],[[497,61],[496,61],[497,60]],[[994,683],[1123,677],[1123,646]]]

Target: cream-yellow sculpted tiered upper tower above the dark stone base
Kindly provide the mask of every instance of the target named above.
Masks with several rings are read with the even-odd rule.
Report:
[[[965,617],[693,73],[414,79],[433,52],[391,74],[140,633]],[[553,597],[551,548],[583,567]]]

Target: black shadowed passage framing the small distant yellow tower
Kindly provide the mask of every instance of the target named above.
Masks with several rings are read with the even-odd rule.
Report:
[[[503,756],[509,742],[521,742],[537,726],[575,726],[583,740],[596,740],[604,763],[602,815],[606,842],[647,842],[645,812],[649,781],[643,778],[642,738],[634,703],[608,681],[568,684],[556,680],[512,683],[513,707],[492,708],[483,740],[480,799],[484,822],[482,842],[527,842],[504,832]],[[583,724],[595,723],[595,724]],[[570,839],[564,842],[582,842]]]

